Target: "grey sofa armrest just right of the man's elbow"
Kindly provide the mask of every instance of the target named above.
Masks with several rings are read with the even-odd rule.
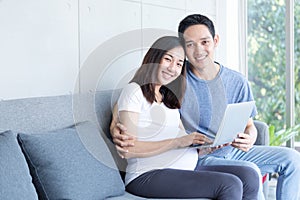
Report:
[[[258,120],[254,120],[254,125],[257,129],[257,139],[255,144],[269,146],[269,126]]]

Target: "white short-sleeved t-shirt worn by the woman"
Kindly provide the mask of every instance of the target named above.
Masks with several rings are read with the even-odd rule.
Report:
[[[137,139],[140,141],[160,141],[186,135],[179,128],[178,109],[170,109],[164,103],[150,104],[136,83],[126,85],[118,100],[118,111],[139,113]],[[180,148],[146,158],[127,159],[125,184],[139,175],[154,169],[194,170],[198,161],[195,148]]]

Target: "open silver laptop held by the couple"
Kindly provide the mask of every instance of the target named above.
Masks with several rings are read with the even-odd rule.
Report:
[[[255,101],[228,104],[213,143],[193,147],[215,147],[232,142],[238,133],[244,132],[254,106]]]

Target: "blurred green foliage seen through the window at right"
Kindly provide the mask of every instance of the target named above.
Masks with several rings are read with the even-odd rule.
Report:
[[[295,0],[294,12],[295,119],[300,124],[300,0]],[[285,57],[285,1],[248,0],[249,82],[258,109],[256,119],[270,126],[271,140],[291,136],[291,130],[285,130]],[[293,127],[296,141],[300,141],[299,126]]]

